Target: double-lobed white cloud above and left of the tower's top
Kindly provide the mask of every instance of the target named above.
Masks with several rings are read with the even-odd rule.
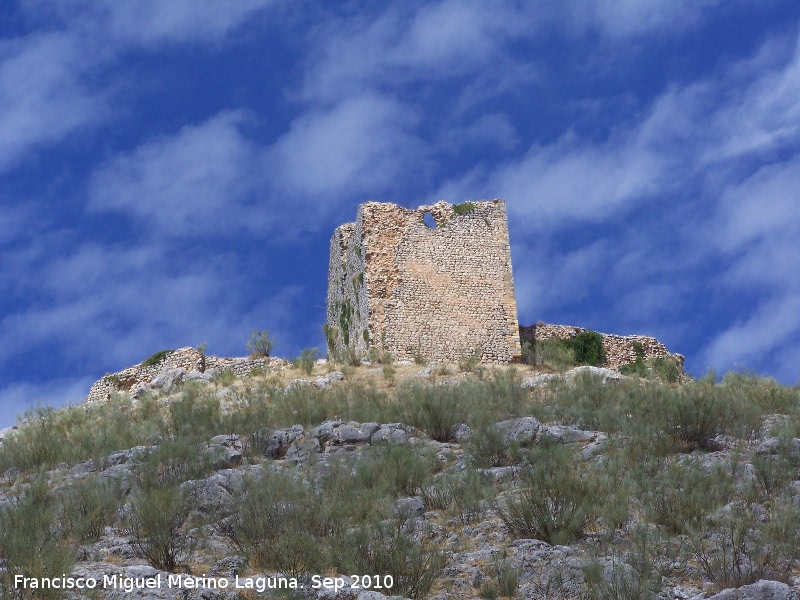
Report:
[[[89,210],[168,236],[291,233],[314,226],[298,213],[314,211],[319,226],[343,199],[387,189],[424,157],[413,114],[376,95],[302,114],[272,145],[245,137],[244,121],[224,111],[113,157],[91,178]]]

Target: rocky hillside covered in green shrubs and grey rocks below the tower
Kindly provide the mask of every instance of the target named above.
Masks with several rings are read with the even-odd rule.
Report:
[[[796,386],[373,358],[32,412],[4,597],[798,598]]]

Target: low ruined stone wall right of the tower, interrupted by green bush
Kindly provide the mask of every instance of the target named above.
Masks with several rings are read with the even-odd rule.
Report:
[[[575,337],[581,331],[587,330],[571,325],[537,323],[536,325],[520,327],[519,335],[524,344],[534,340],[569,339]],[[674,356],[678,359],[681,369],[683,369],[684,357],[680,354],[672,354],[664,344],[654,337],[646,335],[623,336],[612,333],[601,333],[600,335],[603,337],[603,348],[606,351],[606,364],[604,365],[606,367],[614,369],[634,362],[636,360],[634,344],[638,342],[642,345],[644,359]]]

